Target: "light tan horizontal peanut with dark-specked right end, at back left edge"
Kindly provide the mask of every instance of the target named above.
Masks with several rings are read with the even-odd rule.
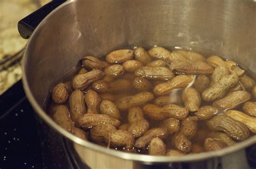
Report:
[[[106,55],[106,61],[110,64],[122,64],[134,57],[133,50],[117,50]]]

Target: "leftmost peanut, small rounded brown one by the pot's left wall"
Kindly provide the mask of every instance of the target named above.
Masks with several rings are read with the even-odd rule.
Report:
[[[58,83],[52,89],[52,100],[57,104],[63,104],[69,97],[69,91],[66,89],[64,83]]]

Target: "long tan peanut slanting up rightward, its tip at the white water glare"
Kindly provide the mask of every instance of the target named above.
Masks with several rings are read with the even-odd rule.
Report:
[[[178,75],[175,76],[170,82],[160,83],[153,88],[155,95],[169,94],[173,89],[179,89],[188,86],[193,81],[193,76],[190,75]]]

